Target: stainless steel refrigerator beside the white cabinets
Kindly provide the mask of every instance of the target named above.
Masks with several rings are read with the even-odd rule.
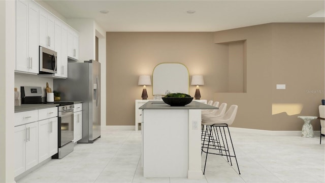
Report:
[[[101,63],[96,60],[68,63],[68,78],[54,79],[61,101],[82,101],[82,139],[93,143],[101,137]]]

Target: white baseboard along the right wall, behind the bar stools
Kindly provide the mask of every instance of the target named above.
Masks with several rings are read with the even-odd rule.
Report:
[[[301,135],[300,131],[272,131],[272,130],[256,130],[256,129],[245,129],[245,128],[236,128],[229,127],[233,132],[244,132],[244,133],[253,133],[253,134],[262,134],[262,135]],[[319,131],[314,131],[314,133],[319,133]]]

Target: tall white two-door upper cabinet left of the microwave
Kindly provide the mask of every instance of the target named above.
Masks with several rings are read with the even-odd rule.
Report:
[[[39,73],[39,6],[16,1],[16,71]]]

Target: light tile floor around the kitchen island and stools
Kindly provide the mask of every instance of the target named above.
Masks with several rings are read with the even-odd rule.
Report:
[[[319,136],[231,133],[241,175],[236,165],[209,155],[201,180],[144,178],[140,131],[104,127],[102,137],[93,144],[77,144],[67,157],[51,160],[17,182],[325,182],[324,143],[319,145]]]

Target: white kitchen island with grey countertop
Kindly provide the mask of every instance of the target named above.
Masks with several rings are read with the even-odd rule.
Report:
[[[181,107],[149,101],[139,109],[143,176],[201,179],[201,109],[218,108],[196,101]]]

